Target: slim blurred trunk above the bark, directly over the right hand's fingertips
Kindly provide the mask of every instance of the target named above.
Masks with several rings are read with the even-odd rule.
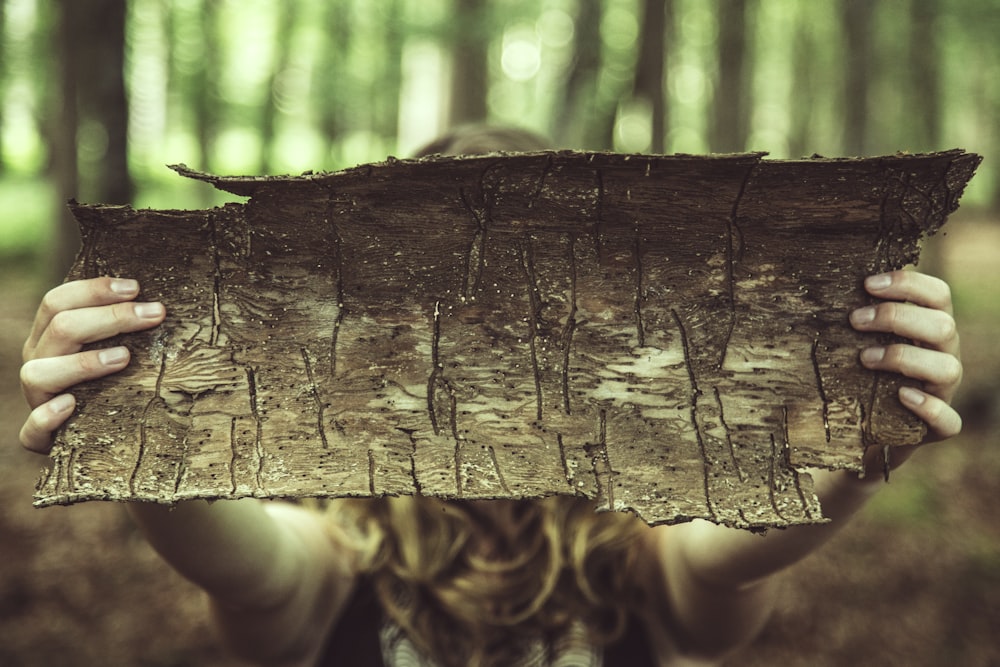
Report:
[[[841,25],[847,50],[844,77],[844,151],[864,155],[868,150],[869,70],[872,62],[872,13],[869,0],[841,0]]]

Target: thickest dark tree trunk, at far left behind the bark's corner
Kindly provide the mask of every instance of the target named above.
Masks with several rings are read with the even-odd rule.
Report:
[[[128,170],[128,102],[125,94],[125,0],[60,0],[58,45],[61,104],[52,165],[62,201],[81,198],[109,204],[132,200]],[[80,129],[91,134],[90,162],[81,165]],[[103,145],[101,143],[103,142]],[[103,150],[102,150],[103,149]],[[81,166],[87,178],[81,178]],[[60,220],[59,275],[79,246],[68,211]]]

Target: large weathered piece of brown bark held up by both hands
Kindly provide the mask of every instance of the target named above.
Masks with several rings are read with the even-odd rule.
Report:
[[[78,387],[36,504],[597,497],[821,521],[807,466],[919,441],[847,313],[979,163],[530,155],[232,178],[208,211],[74,206],[71,277],[167,304]],[[104,343],[109,344],[109,343]]]

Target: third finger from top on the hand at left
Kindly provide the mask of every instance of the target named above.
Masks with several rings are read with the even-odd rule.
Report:
[[[75,384],[120,371],[128,362],[128,348],[121,346],[33,359],[21,366],[21,390],[34,408]]]

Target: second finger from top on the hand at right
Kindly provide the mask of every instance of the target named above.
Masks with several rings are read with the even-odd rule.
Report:
[[[854,310],[850,319],[858,331],[894,333],[949,354],[957,355],[959,351],[955,319],[942,310],[885,301]]]

